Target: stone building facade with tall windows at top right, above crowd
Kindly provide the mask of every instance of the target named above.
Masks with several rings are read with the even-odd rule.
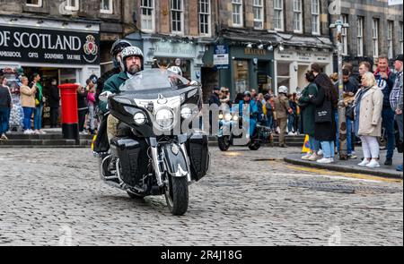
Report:
[[[344,60],[356,67],[361,61],[374,66],[379,55],[392,59],[403,53],[403,6],[382,1],[341,1],[342,20],[349,24],[344,30]],[[331,16],[332,21],[340,18]]]

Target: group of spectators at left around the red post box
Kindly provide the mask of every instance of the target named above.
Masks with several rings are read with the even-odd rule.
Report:
[[[10,114],[13,108],[12,92],[7,86],[8,80],[4,75],[0,76],[0,141],[8,141],[7,133],[10,132]],[[77,111],[79,117],[80,134],[96,133],[97,115],[95,114],[95,89],[97,77],[92,75],[86,85],[78,85]],[[41,83],[39,73],[28,77],[19,77],[19,94],[23,113],[22,130],[24,134],[45,134],[43,128],[44,106],[50,109],[50,128],[59,126],[60,92],[57,80],[52,79],[47,87],[47,94]]]

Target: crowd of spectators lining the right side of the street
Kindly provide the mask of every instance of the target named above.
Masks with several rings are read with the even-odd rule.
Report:
[[[358,166],[380,167],[380,139],[387,142],[385,166],[392,166],[394,149],[402,149],[402,71],[403,55],[395,58],[394,71],[389,68],[386,55],[378,58],[374,72],[368,62],[359,64],[358,76],[354,75],[352,64],[344,64],[342,98],[347,113],[347,156],[358,158],[355,146],[362,143],[364,158]],[[319,64],[312,64],[304,77],[306,87],[298,94],[289,94],[285,86],[278,88],[277,96],[271,91],[263,95],[252,89],[237,94],[234,102],[228,88],[215,88],[209,105],[248,102],[252,104],[251,111],[257,112],[251,115],[254,120],[279,134],[279,147],[287,148],[286,134],[308,135],[310,152],[303,160],[331,164],[340,147],[339,76],[338,73],[328,76],[321,72]],[[400,137],[396,136],[395,127]],[[397,170],[402,171],[402,165]]]

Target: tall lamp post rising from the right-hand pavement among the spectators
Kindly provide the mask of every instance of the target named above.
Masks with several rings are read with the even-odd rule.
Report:
[[[344,104],[343,92],[344,81],[342,78],[342,29],[349,28],[349,24],[342,20],[329,25],[330,29],[337,29],[337,47],[338,47],[338,131],[339,131],[339,159],[347,160],[347,116],[346,106]]]

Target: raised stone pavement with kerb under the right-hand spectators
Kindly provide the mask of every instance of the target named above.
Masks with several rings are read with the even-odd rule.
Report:
[[[348,160],[339,160],[338,156],[335,158],[335,163],[333,164],[319,164],[317,162],[302,160],[301,154],[290,154],[285,157],[285,162],[291,163],[294,165],[301,166],[309,166],[316,167],[321,169],[328,169],[343,173],[357,173],[364,175],[376,175],[381,177],[389,177],[389,178],[403,178],[403,173],[396,171],[396,167],[401,165],[403,162],[403,154],[399,154],[398,152],[394,153],[393,158],[393,166],[385,166],[384,161],[386,157],[386,151],[381,151],[381,161],[379,168],[368,168],[358,166],[358,164],[362,161],[362,148],[356,148],[356,159],[348,159]]]

